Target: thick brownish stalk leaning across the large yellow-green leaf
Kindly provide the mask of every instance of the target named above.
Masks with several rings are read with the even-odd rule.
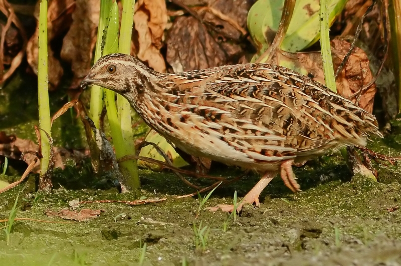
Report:
[[[266,49],[266,51],[263,52],[263,54],[255,61],[256,63],[272,63],[274,56],[276,56],[277,52],[280,51],[280,46],[285,38],[288,27],[290,26],[292,14],[294,13],[294,7],[295,0],[284,1],[283,12],[281,13],[281,20],[276,36],[274,37],[274,40],[269,48]]]

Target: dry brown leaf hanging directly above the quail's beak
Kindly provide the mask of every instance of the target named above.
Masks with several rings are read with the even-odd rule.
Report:
[[[61,58],[71,64],[74,73],[71,88],[79,87],[91,68],[100,12],[98,0],[77,0],[75,6],[73,22],[63,39],[61,50]]]

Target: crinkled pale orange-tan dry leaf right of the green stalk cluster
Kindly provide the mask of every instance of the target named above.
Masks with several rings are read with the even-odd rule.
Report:
[[[135,30],[138,42],[137,56],[158,72],[165,72],[160,54],[162,38],[167,26],[167,8],[164,0],[139,0],[135,5]]]

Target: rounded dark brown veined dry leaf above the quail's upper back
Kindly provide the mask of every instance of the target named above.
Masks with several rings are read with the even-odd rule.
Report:
[[[205,25],[193,17],[177,18],[166,44],[166,59],[174,72],[217,67],[227,62],[226,54]]]

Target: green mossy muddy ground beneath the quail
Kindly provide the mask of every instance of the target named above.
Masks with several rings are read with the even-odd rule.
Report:
[[[16,92],[4,94],[3,101],[17,104],[12,96],[17,94],[21,96]],[[55,101],[63,98],[51,97]],[[33,115],[27,110],[34,102],[32,99],[18,108]],[[11,118],[9,108],[13,104],[2,109],[5,115],[0,129],[34,140],[31,125],[37,117],[27,114]],[[62,132],[61,137],[55,134],[56,145],[79,148],[85,145],[80,136],[69,139],[68,130],[62,129],[64,123],[71,122],[69,119],[73,116],[67,113],[60,118],[59,126],[54,125],[55,132]],[[397,121],[390,135],[384,140],[374,139],[369,146],[383,154],[399,155],[401,129]],[[48,218],[44,211],[68,208],[74,199],[134,200],[144,196],[167,200],[141,206],[83,204],[78,210],[103,210],[99,217],[86,222],[16,221],[10,245],[0,232],[0,265],[137,265],[144,243],[144,265],[401,265],[401,210],[386,210],[401,205],[401,167],[374,167],[378,182],[353,177],[337,154],[310,161],[295,168],[303,192],[293,194],[276,178],[262,193],[261,207],[246,206],[234,221],[221,211],[201,211],[195,218],[199,206],[196,197],[174,198],[193,190],[171,173],[141,170],[141,190],[119,194],[113,182],[92,174],[89,162],[80,169],[69,164],[66,170],[55,172],[55,188],[50,194],[41,194],[35,200],[36,175],[1,194],[0,219],[8,218],[18,194],[23,198],[18,204],[18,218],[50,221],[62,219]],[[11,173],[16,175],[7,177],[9,181],[19,178],[17,170]],[[215,175],[234,177],[239,173],[238,169],[219,165],[212,169]],[[240,200],[257,180],[258,176],[250,174],[217,189],[206,206],[231,204],[235,191]],[[118,216],[122,213],[125,215]],[[201,222],[202,227],[209,228],[204,250],[202,245],[195,245],[193,230],[193,225],[198,227]]]

